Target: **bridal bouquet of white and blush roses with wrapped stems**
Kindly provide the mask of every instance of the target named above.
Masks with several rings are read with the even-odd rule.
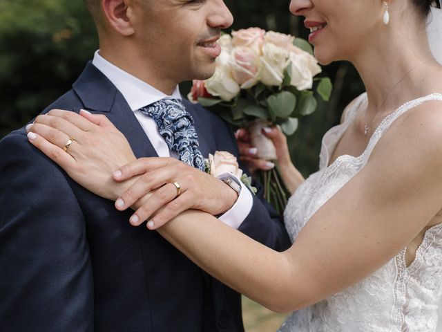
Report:
[[[276,162],[273,143],[261,129],[277,124],[292,135],[298,118],[316,109],[314,81],[323,100],[329,99],[332,84],[327,77],[314,78],[321,68],[304,39],[248,28],[222,35],[218,43],[222,52],[214,75],[193,81],[189,100],[215,111],[233,127],[247,127],[258,156]],[[258,176],[267,201],[282,212],[289,193],[278,167]]]

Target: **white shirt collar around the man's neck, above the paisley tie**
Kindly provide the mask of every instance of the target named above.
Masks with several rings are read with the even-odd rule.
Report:
[[[132,111],[137,111],[137,109],[141,109],[164,98],[182,99],[178,86],[176,86],[172,95],[166,95],[137,77],[126,73],[126,71],[111,64],[111,62],[108,62],[104,57],[99,55],[99,50],[95,52],[92,64],[117,87]]]

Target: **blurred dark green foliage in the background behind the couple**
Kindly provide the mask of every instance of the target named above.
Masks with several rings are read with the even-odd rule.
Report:
[[[233,29],[259,26],[307,39],[302,18],[289,13],[289,0],[225,2],[235,17]],[[0,138],[68,91],[97,48],[95,26],[81,0],[0,0]],[[348,63],[326,66],[322,75],[334,82],[331,100],[320,101],[289,138],[295,165],[305,175],[318,167],[325,131],[363,92]],[[182,84],[184,95],[189,86]]]

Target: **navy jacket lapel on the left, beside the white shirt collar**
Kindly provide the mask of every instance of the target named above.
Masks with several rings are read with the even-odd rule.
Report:
[[[111,120],[124,134],[137,158],[158,156],[123,95],[91,62],[73,84],[73,90],[86,110],[104,114]]]

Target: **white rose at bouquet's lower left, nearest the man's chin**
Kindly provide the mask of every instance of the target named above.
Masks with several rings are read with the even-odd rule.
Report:
[[[204,84],[207,92],[229,102],[240,92],[240,85],[233,80],[229,66],[216,66],[215,73]]]

